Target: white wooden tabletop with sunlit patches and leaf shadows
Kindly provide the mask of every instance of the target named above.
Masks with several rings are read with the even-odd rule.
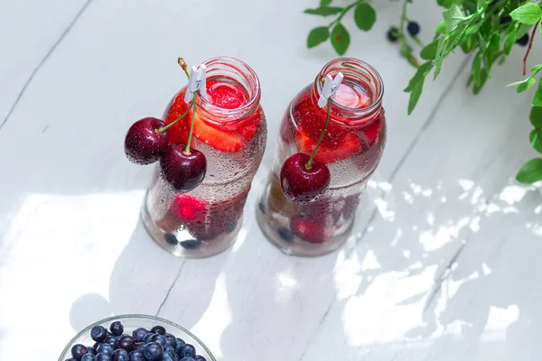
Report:
[[[427,41],[440,10],[415,3]],[[465,88],[470,62],[453,56],[407,117],[414,69],[385,40],[399,6],[379,2],[375,29],[352,31],[348,52],[380,71],[388,116],[357,230],[317,259],[263,238],[254,208],[285,106],[335,57],[304,47],[325,22],[302,13],[316,4],[0,1],[1,360],[55,360],[76,331],[123,313],[192,329],[220,360],[540,357],[542,194],[512,178],[534,156],[531,97],[504,88],[522,78],[523,48],[478,97]],[[185,83],[178,56],[218,55],[256,69],[269,141],[238,243],[182,260],[139,221],[152,168],[127,162],[123,139]]]

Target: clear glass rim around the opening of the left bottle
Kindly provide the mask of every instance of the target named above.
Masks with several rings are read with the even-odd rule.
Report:
[[[203,62],[207,67],[207,79],[223,80],[229,83],[236,83],[246,94],[247,101],[241,106],[227,108],[217,106],[206,97],[201,97],[200,90],[197,91],[199,105],[213,117],[220,121],[236,120],[254,112],[259,105],[260,83],[256,72],[244,61],[231,57],[217,57]]]

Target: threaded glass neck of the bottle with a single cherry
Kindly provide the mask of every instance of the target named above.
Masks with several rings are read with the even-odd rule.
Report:
[[[382,79],[378,71],[365,61],[353,58],[332,60],[314,80],[311,93],[315,103],[322,94],[325,77],[331,75],[335,78],[339,72],[344,79],[332,99],[330,114],[333,120],[344,125],[363,125],[377,116],[382,108]]]

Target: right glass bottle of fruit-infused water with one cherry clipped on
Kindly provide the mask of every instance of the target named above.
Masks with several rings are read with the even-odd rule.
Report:
[[[324,79],[340,72],[344,79],[329,100],[329,110],[319,106]],[[257,208],[264,234],[285,254],[324,255],[350,236],[361,193],[386,142],[382,95],[375,69],[361,60],[341,58],[328,63],[286,109],[273,170]],[[306,164],[321,136],[314,164],[326,172],[297,174],[306,170],[295,162]],[[285,192],[285,172],[288,187],[307,194],[322,177],[328,177],[328,183],[316,199],[298,202]]]

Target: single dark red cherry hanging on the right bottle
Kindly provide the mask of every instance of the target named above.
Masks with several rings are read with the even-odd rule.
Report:
[[[316,160],[310,169],[305,167],[310,157],[296,153],[286,159],[280,171],[280,185],[286,199],[307,204],[318,199],[330,185],[331,173],[328,167]]]

